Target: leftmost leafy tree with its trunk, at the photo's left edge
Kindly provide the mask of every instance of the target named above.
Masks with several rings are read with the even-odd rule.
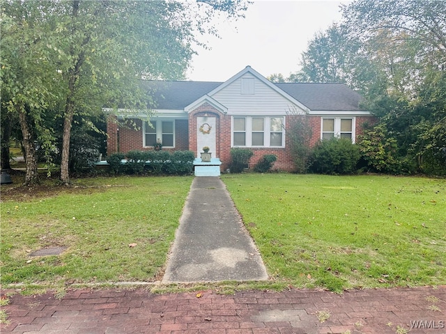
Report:
[[[2,3],[1,13],[1,109],[7,117],[17,115],[22,129],[26,160],[25,184],[38,183],[36,128],[45,109],[54,102],[57,75],[49,63],[52,52],[41,38],[45,3]]]

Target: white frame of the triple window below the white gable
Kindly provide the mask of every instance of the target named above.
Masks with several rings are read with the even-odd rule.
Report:
[[[245,118],[245,145],[234,145],[234,118]],[[263,118],[263,145],[252,145],[252,118]],[[271,145],[271,118],[282,118],[282,145]],[[285,147],[285,116],[232,116],[231,118],[231,148],[284,148]]]

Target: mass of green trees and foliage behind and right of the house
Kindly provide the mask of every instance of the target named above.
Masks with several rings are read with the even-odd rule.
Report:
[[[364,144],[369,167],[446,174],[446,2],[356,0],[341,13],[309,42],[289,80],[341,81],[364,95],[362,108],[389,136],[375,150]],[[391,150],[395,164],[384,157]]]

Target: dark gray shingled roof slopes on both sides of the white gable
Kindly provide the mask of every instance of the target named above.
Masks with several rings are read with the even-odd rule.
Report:
[[[155,109],[183,110],[185,106],[214,90],[215,81],[142,81],[153,95]],[[285,93],[313,111],[359,111],[361,95],[345,84],[275,83]]]

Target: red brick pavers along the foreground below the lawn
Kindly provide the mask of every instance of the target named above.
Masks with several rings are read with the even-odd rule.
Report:
[[[2,296],[13,291],[3,290]],[[9,296],[1,333],[431,333],[446,334],[446,286],[284,292],[153,294],[68,290],[61,299]],[[325,321],[323,321],[325,319]]]

